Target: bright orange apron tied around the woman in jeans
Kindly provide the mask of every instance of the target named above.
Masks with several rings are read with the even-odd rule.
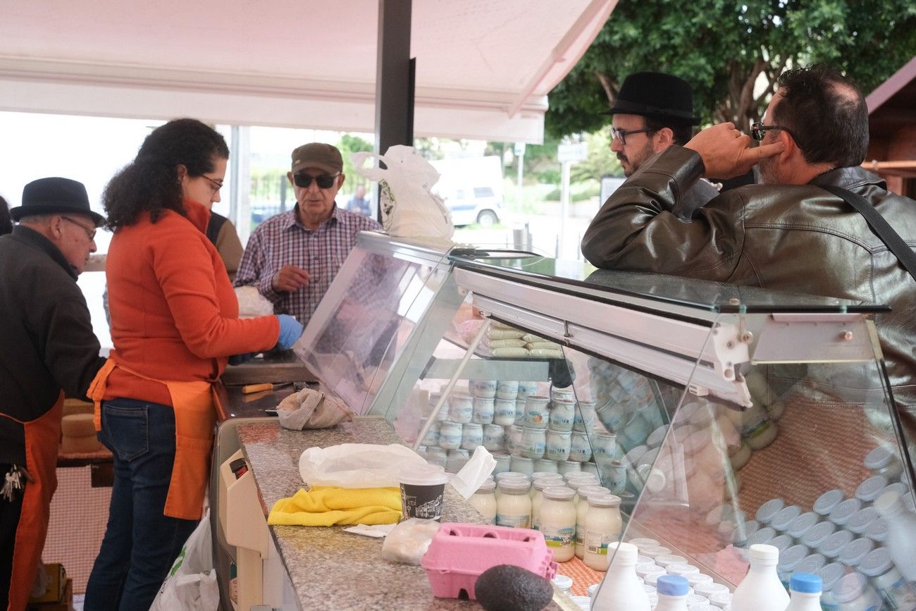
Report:
[[[86,393],[95,403],[96,431],[102,430],[102,399],[108,376],[114,367],[169,388],[175,410],[175,463],[172,465],[169,494],[166,496],[163,513],[169,518],[201,519],[203,496],[210,479],[210,451],[213,448],[213,425],[216,422],[213,384],[204,381],[158,380],[118,365],[109,357]]]

